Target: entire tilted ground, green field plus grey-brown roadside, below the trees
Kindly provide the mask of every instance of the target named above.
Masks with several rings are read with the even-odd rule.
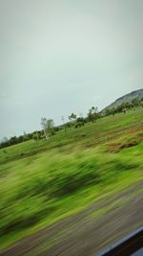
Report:
[[[1,255],[94,255],[142,225],[143,107],[0,151]]]

